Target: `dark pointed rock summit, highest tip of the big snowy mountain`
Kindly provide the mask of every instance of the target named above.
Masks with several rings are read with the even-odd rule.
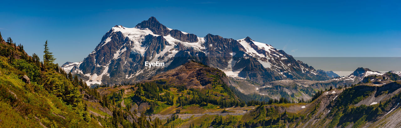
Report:
[[[170,32],[166,26],[160,24],[155,17],[150,17],[148,20],[144,20],[141,23],[137,24],[135,28],[148,28],[154,34],[158,34],[161,36],[167,36]]]

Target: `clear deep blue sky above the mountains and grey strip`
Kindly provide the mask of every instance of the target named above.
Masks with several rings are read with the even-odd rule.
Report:
[[[42,56],[48,40],[59,64],[83,60],[111,27],[150,16],[200,37],[249,36],[296,57],[401,57],[397,0],[277,1],[4,0],[0,32],[28,54]]]

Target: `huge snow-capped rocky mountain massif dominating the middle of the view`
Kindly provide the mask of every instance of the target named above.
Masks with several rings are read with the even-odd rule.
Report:
[[[249,37],[240,40],[212,34],[198,37],[167,28],[154,17],[134,28],[114,26],[93,52],[82,62],[74,63],[71,72],[86,80],[88,85],[119,84],[147,79],[188,60],[219,68],[232,78],[249,78],[258,83],[330,78],[283,50]],[[164,66],[145,66],[145,62],[163,62]],[[63,67],[70,69],[70,65]]]

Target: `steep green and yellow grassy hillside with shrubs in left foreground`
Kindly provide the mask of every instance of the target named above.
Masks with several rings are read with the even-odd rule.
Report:
[[[0,42],[0,127],[99,127],[59,71],[45,70],[22,45]]]

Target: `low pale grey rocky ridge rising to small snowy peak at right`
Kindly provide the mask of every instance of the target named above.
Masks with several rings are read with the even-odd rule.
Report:
[[[392,71],[394,72],[394,71]],[[398,72],[394,72],[397,74]],[[310,99],[315,90],[325,90],[339,86],[351,86],[358,84],[363,81],[367,76],[378,76],[385,73],[372,71],[369,68],[357,68],[352,74],[344,77],[336,77],[330,80],[276,80],[272,82],[266,82],[262,85],[251,85],[251,86],[240,86],[238,87],[243,93],[252,93],[253,91],[269,96],[271,98],[294,98],[297,99]],[[245,91],[244,88],[247,88]],[[252,89],[249,89],[252,88]]]

